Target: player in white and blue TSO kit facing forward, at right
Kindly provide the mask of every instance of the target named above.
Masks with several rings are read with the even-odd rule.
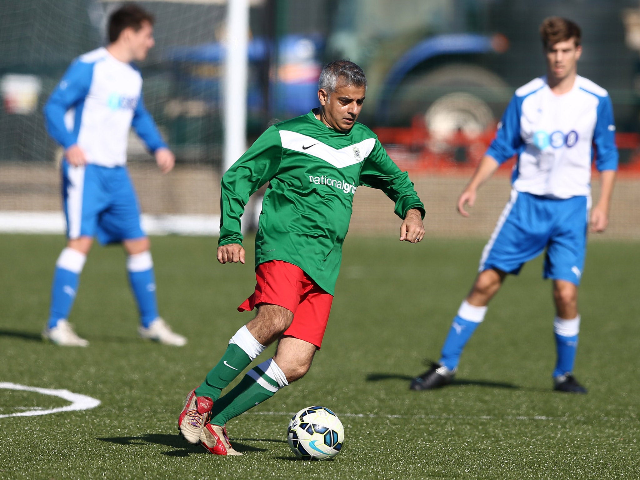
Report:
[[[487,305],[509,273],[547,250],[544,277],[554,282],[557,362],[554,389],[586,393],[573,376],[580,315],[578,286],[591,231],[607,227],[609,201],[618,168],[611,99],[604,88],[577,75],[580,28],[559,17],[540,27],[547,76],[516,90],[476,173],[458,199],[468,216],[477,188],[501,163],[517,156],[511,200],[484,247],[479,275],[442,348],[440,361],[412,381],[413,390],[442,387],[454,376],[462,350],[483,321]],[[600,200],[591,209],[591,163],[596,154]]]

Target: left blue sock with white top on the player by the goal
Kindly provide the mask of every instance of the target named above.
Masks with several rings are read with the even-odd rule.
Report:
[[[58,320],[67,319],[71,307],[76,300],[76,292],[80,283],[80,273],[84,267],[84,253],[65,248],[56,262],[56,271],[51,285],[51,307],[47,328],[54,328]]]

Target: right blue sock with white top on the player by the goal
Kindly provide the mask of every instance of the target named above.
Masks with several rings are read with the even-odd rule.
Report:
[[[150,252],[129,255],[127,259],[127,271],[129,271],[129,284],[138,303],[140,323],[148,326],[158,317],[156,300],[156,278],[154,275],[154,263]]]

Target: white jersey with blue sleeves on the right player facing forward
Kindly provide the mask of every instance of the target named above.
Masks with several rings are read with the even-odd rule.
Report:
[[[604,88],[577,76],[570,92],[556,95],[540,77],[516,90],[486,154],[500,164],[517,155],[516,191],[548,198],[589,196],[594,153],[600,172],[618,169],[615,131]]]

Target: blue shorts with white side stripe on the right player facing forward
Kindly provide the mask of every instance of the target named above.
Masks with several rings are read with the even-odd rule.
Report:
[[[544,278],[580,285],[590,200],[511,191],[511,200],[484,247],[479,271],[497,269],[518,275],[526,262],[546,249]]]

